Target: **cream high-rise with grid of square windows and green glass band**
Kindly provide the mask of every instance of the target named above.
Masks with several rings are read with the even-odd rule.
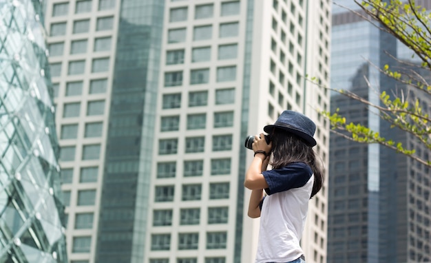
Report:
[[[47,15],[72,262],[251,262],[246,136],[304,112],[327,162],[328,92],[305,76],[329,78],[328,1],[51,1]],[[326,259],[326,194],[307,262]]]

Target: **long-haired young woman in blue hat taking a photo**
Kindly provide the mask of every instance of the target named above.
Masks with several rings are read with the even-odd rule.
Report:
[[[253,140],[253,161],[244,186],[251,189],[249,216],[260,217],[256,263],[305,262],[299,246],[308,201],[322,188],[324,171],[313,146],[315,123],[298,112],[284,111]],[[270,156],[272,156],[270,162]],[[271,164],[272,169],[266,170]]]

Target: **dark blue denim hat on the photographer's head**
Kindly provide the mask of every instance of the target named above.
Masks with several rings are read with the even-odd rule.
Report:
[[[316,140],[313,138],[316,131],[315,123],[313,123],[313,120],[299,112],[285,110],[273,125],[266,125],[264,127],[264,131],[271,134],[274,128],[283,129],[291,134],[295,134],[296,136],[303,138],[311,147],[317,144]]]

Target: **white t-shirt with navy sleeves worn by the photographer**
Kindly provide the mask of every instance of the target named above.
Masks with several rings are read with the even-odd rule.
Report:
[[[313,190],[313,171],[304,162],[295,162],[262,174],[269,188],[260,213],[255,262],[296,260],[303,254],[299,240]]]

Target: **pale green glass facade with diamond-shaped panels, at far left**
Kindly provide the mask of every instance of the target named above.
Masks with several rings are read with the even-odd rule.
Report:
[[[42,19],[0,2],[0,262],[67,262]]]

